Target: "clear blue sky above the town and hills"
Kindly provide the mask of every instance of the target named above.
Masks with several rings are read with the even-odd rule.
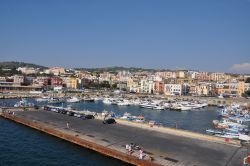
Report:
[[[250,73],[250,0],[0,0],[0,61]]]

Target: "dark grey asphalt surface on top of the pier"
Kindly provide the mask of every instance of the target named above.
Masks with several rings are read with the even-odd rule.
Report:
[[[243,155],[246,154],[246,150],[241,147],[121,124],[105,125],[101,120],[82,120],[48,111],[18,111],[15,116],[76,132],[83,139],[121,152],[126,152],[125,145],[128,143],[138,144],[147,156],[153,157],[161,165],[237,166],[242,165]],[[69,129],[66,127],[67,122]]]

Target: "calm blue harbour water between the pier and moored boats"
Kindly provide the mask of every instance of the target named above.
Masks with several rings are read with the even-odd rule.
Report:
[[[0,100],[0,106],[13,106],[20,99]],[[36,103],[34,99],[28,99],[38,105],[45,105],[46,102]],[[142,115],[146,120],[155,120],[166,127],[176,127],[179,129],[190,130],[199,133],[205,133],[206,129],[211,128],[212,120],[218,119],[217,107],[206,107],[203,109],[192,111],[170,111],[170,110],[152,110],[140,108],[139,106],[117,106],[106,105],[103,102],[80,102],[70,103],[72,108],[76,110],[89,110],[102,112],[103,110],[112,111],[115,114],[123,115],[125,112],[134,116]],[[56,106],[64,106],[67,104],[57,104]]]

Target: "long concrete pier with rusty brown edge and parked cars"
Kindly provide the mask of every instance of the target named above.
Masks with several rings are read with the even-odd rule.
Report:
[[[1,116],[134,165],[237,166],[245,152],[237,143],[123,121],[105,125],[101,120],[82,120],[43,110],[15,111],[14,115],[4,112]],[[136,150],[131,155],[126,153],[125,145],[129,143],[143,148],[143,160],[138,159]]]

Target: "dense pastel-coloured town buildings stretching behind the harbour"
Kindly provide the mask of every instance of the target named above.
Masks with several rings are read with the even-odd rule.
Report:
[[[0,92],[119,90],[167,96],[250,96],[250,75],[192,70],[0,69]],[[11,71],[11,72],[9,72]],[[4,74],[8,72],[8,74]]]

